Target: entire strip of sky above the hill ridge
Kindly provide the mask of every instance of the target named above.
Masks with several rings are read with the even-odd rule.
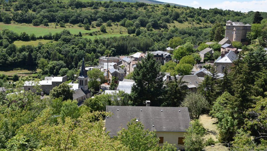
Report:
[[[175,3],[194,8],[220,8],[223,10],[234,10],[241,12],[263,11],[267,12],[267,0],[158,0],[161,2]]]

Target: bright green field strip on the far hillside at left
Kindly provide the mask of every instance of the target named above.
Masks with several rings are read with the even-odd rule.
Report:
[[[18,34],[25,31],[27,34],[35,34],[36,36],[43,36],[45,34],[48,34],[49,32],[51,32],[52,34],[55,34],[57,32],[63,31],[64,29],[69,30],[72,34],[78,34],[80,31],[81,31],[81,33],[90,33],[90,32],[98,30],[97,28],[93,28],[92,30],[87,31],[83,27],[78,27],[78,26],[72,27],[71,25],[68,26],[68,24],[66,24],[66,28],[62,28],[59,26],[57,26],[57,28],[55,28],[54,23],[49,23],[49,27],[33,26],[32,24],[18,24],[18,23],[4,24],[4,23],[0,23],[0,30],[3,30],[3,29],[9,29],[9,30],[14,31]]]

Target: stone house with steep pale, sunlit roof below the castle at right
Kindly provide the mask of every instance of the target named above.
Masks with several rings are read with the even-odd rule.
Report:
[[[219,73],[223,73],[223,70],[227,67],[228,72],[230,72],[230,67],[234,66],[234,61],[237,60],[237,54],[233,51],[224,51],[221,56],[214,62],[216,69]]]

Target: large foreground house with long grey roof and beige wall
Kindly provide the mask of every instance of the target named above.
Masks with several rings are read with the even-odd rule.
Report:
[[[175,144],[184,149],[184,133],[189,127],[190,117],[187,108],[182,107],[152,107],[150,101],[147,106],[106,106],[106,112],[113,113],[106,116],[105,128],[111,138],[117,136],[121,128],[127,129],[127,123],[136,118],[136,122],[144,124],[144,129],[156,130],[159,145],[164,142]]]

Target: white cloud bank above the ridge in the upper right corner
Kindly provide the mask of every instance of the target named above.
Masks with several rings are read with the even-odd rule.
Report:
[[[249,1],[249,2],[236,2],[236,1],[224,1],[217,4],[205,5],[202,8],[221,8],[224,10],[234,10],[234,11],[241,11],[241,12],[248,12],[248,11],[264,11],[267,12],[267,0],[261,1]]]

